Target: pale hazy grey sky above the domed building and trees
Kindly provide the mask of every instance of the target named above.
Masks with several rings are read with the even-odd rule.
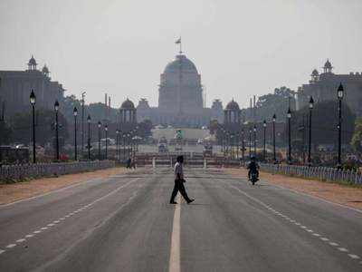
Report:
[[[207,105],[246,106],[252,94],[296,90],[327,58],[336,73],[362,72],[361,11],[361,0],[0,0],[0,70],[24,70],[33,54],[67,94],[157,105],[182,35]]]

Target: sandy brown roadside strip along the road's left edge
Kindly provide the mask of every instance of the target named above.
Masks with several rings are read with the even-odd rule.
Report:
[[[125,168],[111,168],[78,174],[63,175],[58,178],[43,178],[18,182],[14,184],[0,184],[0,205],[8,204],[20,199],[31,198],[36,195],[61,189],[72,184],[91,179],[107,179],[110,176],[127,173]]]

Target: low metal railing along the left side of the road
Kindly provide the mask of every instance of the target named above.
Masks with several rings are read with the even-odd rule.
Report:
[[[115,162],[112,160],[3,165],[0,167],[0,181],[60,176],[114,166]]]

